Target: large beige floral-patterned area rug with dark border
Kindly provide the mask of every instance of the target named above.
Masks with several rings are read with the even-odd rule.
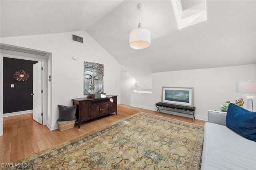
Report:
[[[140,112],[16,163],[36,170],[198,170],[203,135],[201,125]]]

